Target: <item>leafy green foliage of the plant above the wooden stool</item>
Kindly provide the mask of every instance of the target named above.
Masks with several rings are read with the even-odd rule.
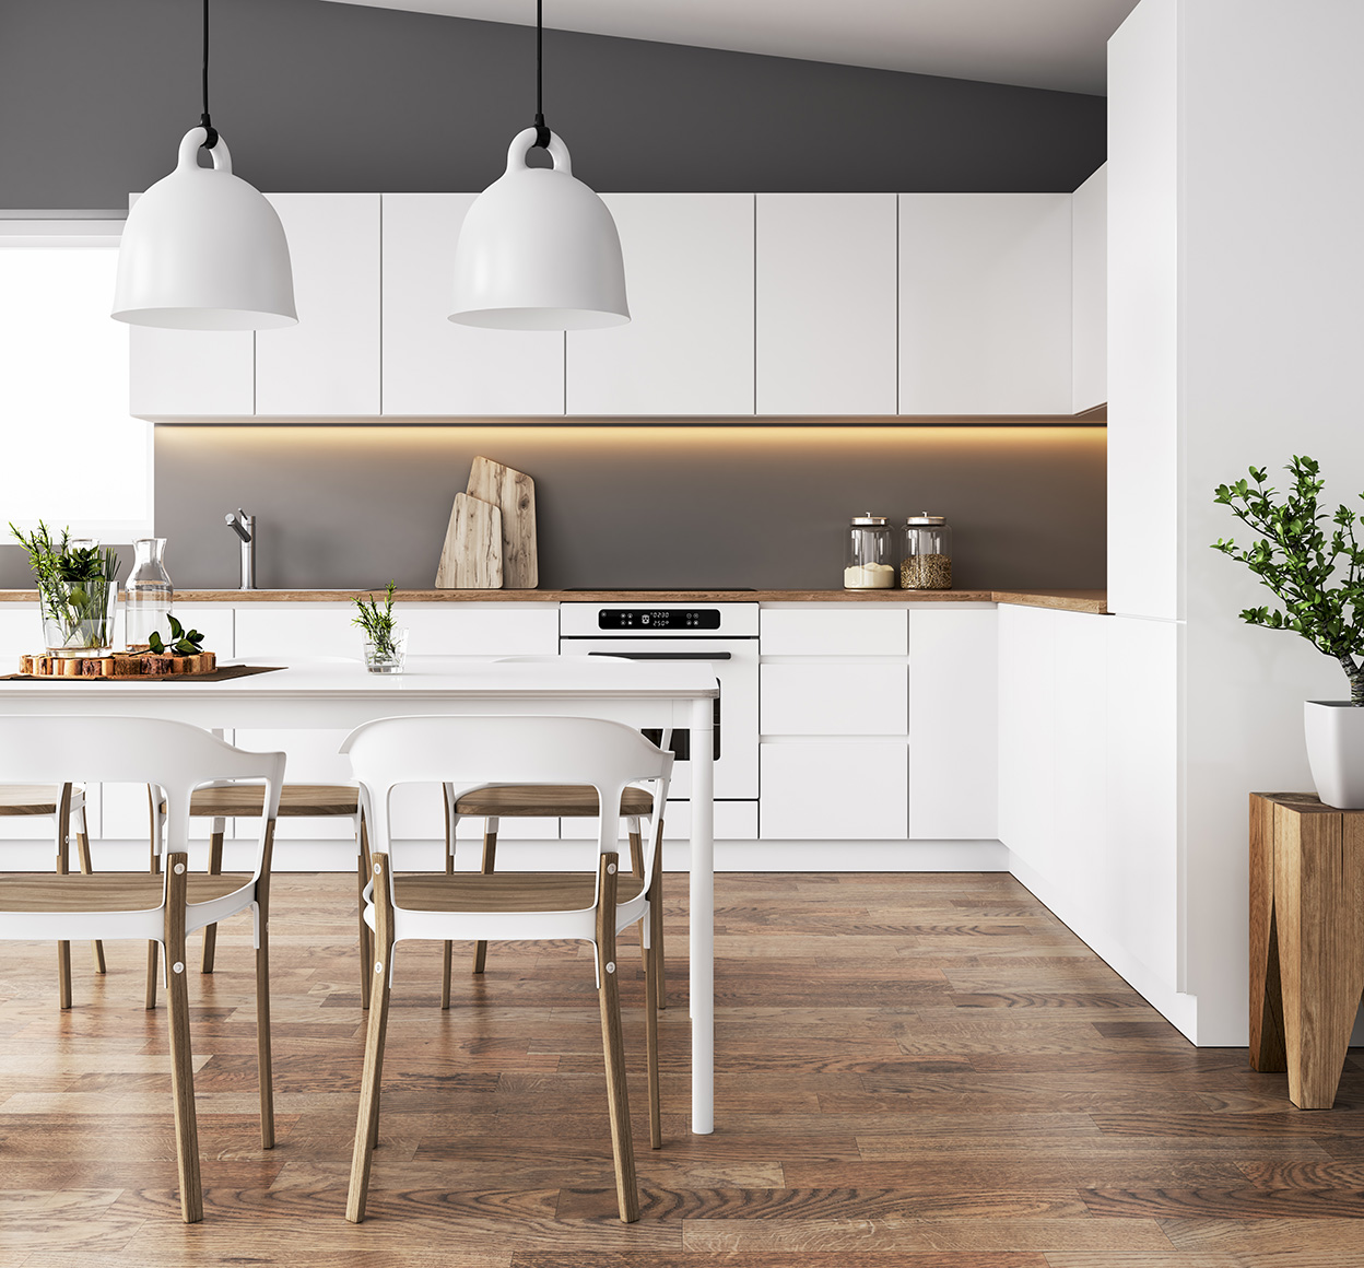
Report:
[[[1217,486],[1213,501],[1260,539],[1241,547],[1219,538],[1213,549],[1249,568],[1282,605],[1247,607],[1241,620],[1290,629],[1339,662],[1350,703],[1364,707],[1364,547],[1356,538],[1364,516],[1345,505],[1334,515],[1322,508],[1326,482],[1315,459],[1294,456],[1285,471],[1293,487],[1282,495],[1266,486],[1267,472],[1256,467],[1249,480]]]

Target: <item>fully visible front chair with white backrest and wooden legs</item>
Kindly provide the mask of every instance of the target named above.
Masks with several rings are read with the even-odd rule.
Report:
[[[387,1031],[393,955],[406,939],[591,942],[596,950],[602,1047],[621,1219],[640,1217],[630,1138],[617,983],[617,935],[648,913],[648,883],[657,853],[672,753],[637,730],[597,718],[382,718],[353,730],[341,751],[360,781],[370,823],[371,884],[366,919],[374,921],[374,992],[364,1048],[346,1219],[364,1219],[370,1168],[379,1132],[379,1082]],[[644,835],[644,876],[619,871],[621,818],[632,783],[648,782],[655,813]],[[582,842],[584,872],[394,874],[389,794],[398,783],[450,783],[456,798],[499,783],[591,789],[597,841]],[[648,939],[645,925],[642,936]],[[649,1144],[663,1144],[659,1115],[657,1013],[653,958],[645,955],[645,1036],[649,1077]]]

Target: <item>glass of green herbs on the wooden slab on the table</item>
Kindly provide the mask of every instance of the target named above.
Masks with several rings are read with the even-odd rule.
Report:
[[[119,602],[119,556],[98,542],[74,539],[70,528],[55,539],[42,520],[31,532],[10,525],[29,551],[38,587],[42,640],[59,657],[102,655],[113,647],[113,613]]]

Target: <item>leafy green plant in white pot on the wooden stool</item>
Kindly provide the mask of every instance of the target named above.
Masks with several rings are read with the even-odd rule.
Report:
[[[1354,536],[1364,517],[1320,505],[1326,482],[1314,459],[1294,457],[1284,470],[1293,487],[1282,497],[1256,467],[1249,480],[1218,485],[1214,501],[1260,539],[1247,547],[1218,539],[1213,549],[1249,568],[1282,605],[1247,607],[1243,621],[1290,629],[1345,672],[1349,700],[1304,702],[1307,759],[1322,801],[1364,809],[1364,546]]]

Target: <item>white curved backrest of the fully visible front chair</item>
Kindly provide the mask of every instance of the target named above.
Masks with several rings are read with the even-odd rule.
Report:
[[[603,718],[379,718],[351,732],[341,752],[360,781],[371,846],[385,852],[391,848],[389,793],[400,783],[443,783],[454,797],[499,783],[591,785],[602,807],[597,849],[604,852],[619,845],[626,786],[649,782],[653,822],[645,863],[652,865],[653,827],[672,774],[672,753]]]

